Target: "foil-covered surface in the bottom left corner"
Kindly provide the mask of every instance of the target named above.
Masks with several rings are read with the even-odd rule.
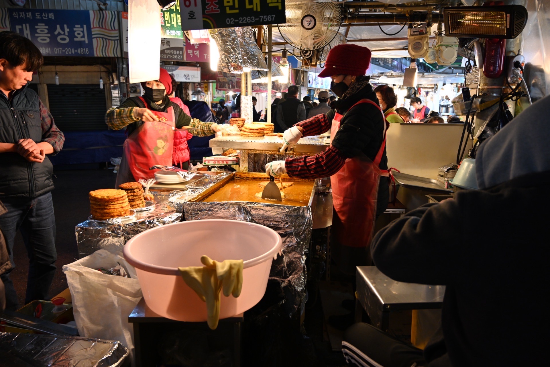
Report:
[[[116,367],[127,355],[117,341],[0,332],[0,359],[10,367]]]

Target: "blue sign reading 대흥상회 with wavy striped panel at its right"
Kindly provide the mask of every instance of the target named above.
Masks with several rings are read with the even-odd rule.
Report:
[[[117,12],[2,9],[8,28],[30,39],[43,56],[120,56]]]

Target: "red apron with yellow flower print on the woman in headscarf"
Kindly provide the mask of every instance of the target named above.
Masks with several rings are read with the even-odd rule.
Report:
[[[139,98],[147,106],[144,98]],[[170,106],[167,112],[153,113],[166,118],[166,122],[144,122],[124,141],[124,157],[136,181],[155,177],[159,170],[149,169],[152,166],[172,166],[174,108]]]

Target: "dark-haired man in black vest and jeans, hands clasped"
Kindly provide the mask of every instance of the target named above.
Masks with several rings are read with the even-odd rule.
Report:
[[[29,39],[0,32],[0,199],[7,209],[0,229],[12,269],[18,229],[23,236],[30,259],[25,303],[48,299],[57,260],[53,166],[46,155],[59,152],[65,138],[36,92],[26,87],[42,64],[42,54]],[[6,309],[15,310],[19,303],[9,271],[1,278]]]

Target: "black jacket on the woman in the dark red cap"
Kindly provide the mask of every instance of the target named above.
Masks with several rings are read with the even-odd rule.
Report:
[[[359,76],[357,80],[368,81],[369,76]],[[360,100],[367,98],[378,105],[376,93],[372,90],[372,85],[367,84],[355,94],[334,102],[335,110],[327,113],[327,117],[332,120],[335,112],[344,115],[340,121],[338,134],[334,136],[332,145],[348,158],[353,158],[365,154],[371,161],[375,160],[376,154],[382,144],[384,133],[384,118],[378,108],[370,103],[361,103],[353,108],[351,106]],[[388,157],[386,149],[382,155],[380,169],[388,169]],[[389,187],[388,178],[380,177],[378,187],[378,202],[376,215],[383,213],[388,207]]]

